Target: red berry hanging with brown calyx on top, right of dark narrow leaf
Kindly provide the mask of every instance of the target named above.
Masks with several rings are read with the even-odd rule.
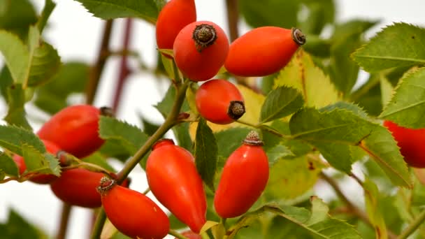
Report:
[[[220,217],[243,215],[261,196],[268,181],[268,159],[261,145],[252,131],[227,159],[214,197]]]

